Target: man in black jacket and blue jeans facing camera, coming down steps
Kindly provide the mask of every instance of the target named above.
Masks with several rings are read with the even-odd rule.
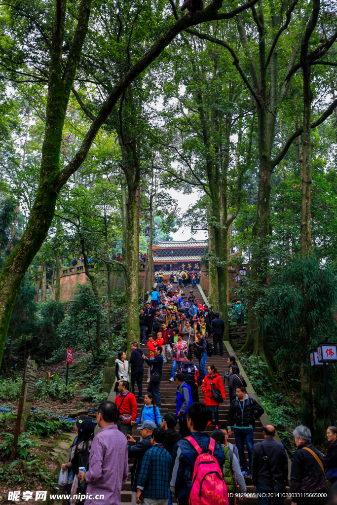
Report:
[[[252,473],[253,430],[255,428],[255,419],[262,416],[263,413],[264,409],[261,407],[260,403],[248,396],[244,386],[236,388],[236,398],[231,402],[228,411],[227,429],[228,436],[231,436],[231,428],[234,426],[235,444],[244,477],[248,475],[245,443],[248,451],[249,469]]]

